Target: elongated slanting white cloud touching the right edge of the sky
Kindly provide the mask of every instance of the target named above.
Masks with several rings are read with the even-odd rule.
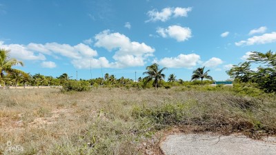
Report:
[[[276,42],[276,32],[266,33],[262,36],[254,36],[246,41],[239,41],[235,43],[237,46],[241,45],[255,45],[255,44],[266,44]]]

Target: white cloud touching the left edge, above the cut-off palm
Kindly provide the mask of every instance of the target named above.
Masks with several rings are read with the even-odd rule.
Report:
[[[10,57],[19,59],[19,60],[28,60],[28,61],[44,61],[46,57],[41,53],[35,53],[32,50],[29,50],[26,45],[19,44],[4,44],[3,41],[0,41],[0,47],[6,50],[10,50]]]

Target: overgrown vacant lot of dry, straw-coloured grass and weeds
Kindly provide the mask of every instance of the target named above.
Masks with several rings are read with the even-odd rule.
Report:
[[[0,101],[0,154],[146,154],[158,152],[160,131],[171,127],[255,138],[276,133],[274,95],[223,88],[17,89],[0,90]]]

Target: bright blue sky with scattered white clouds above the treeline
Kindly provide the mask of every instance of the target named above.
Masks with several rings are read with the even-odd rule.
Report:
[[[0,0],[0,48],[31,74],[135,79],[146,66],[217,81],[251,51],[276,51],[276,1]],[[256,67],[256,66],[255,66]],[[254,70],[254,68],[253,68]]]

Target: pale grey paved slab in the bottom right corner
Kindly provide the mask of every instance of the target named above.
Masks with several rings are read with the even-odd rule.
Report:
[[[257,141],[241,135],[176,134],[166,137],[160,147],[166,155],[276,155],[276,138]]]

